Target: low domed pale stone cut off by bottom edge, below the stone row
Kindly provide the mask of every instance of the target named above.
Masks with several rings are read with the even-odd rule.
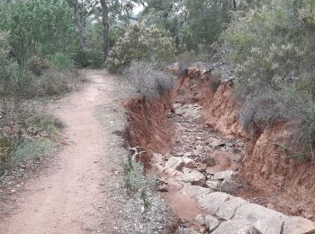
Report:
[[[262,234],[257,228],[246,221],[228,220],[222,222],[219,228],[215,229],[211,234]],[[278,233],[280,234],[280,232]]]

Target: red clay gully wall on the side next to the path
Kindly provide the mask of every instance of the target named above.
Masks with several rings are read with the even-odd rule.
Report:
[[[169,151],[174,129],[165,116],[171,103],[171,94],[166,94],[159,101],[134,98],[123,104],[128,114],[130,145],[145,148],[146,154],[139,159],[146,168],[150,167],[153,152],[166,154]]]

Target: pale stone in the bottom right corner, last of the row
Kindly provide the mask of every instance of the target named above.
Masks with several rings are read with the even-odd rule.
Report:
[[[315,223],[302,217],[287,217],[284,220],[284,234],[315,233]]]

